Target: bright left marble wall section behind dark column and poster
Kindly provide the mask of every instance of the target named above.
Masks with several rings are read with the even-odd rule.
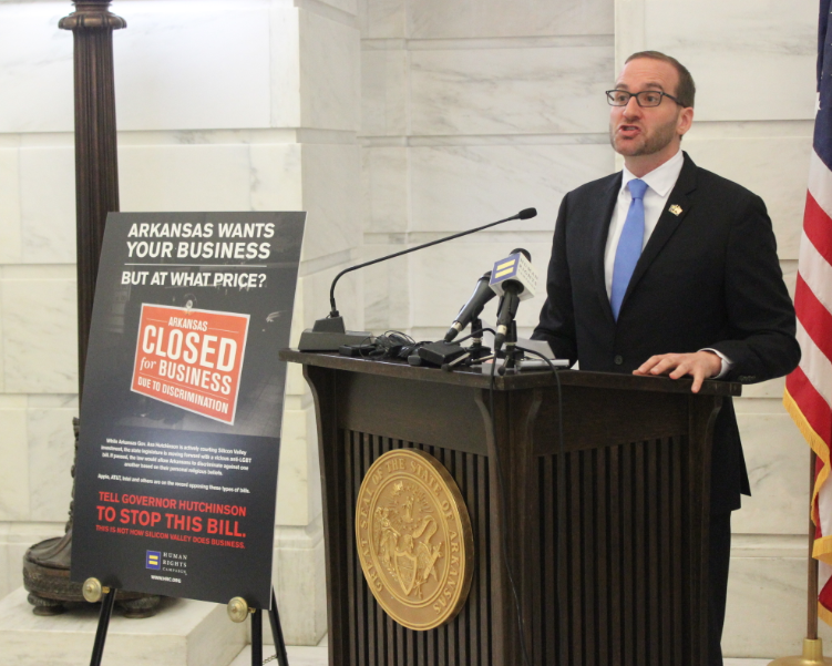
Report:
[[[360,32],[349,0],[116,0],[122,211],[308,212],[296,334],[361,245]],[[75,396],[70,2],[0,2],[0,595],[62,531]],[[360,283],[341,288],[360,319]],[[326,632],[311,402],[289,378],[275,581],[287,639]]]

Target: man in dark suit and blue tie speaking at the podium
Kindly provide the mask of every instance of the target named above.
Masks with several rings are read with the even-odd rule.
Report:
[[[631,55],[608,91],[625,168],[561,204],[534,338],[583,370],[751,383],[800,360],[795,320],[762,199],[681,152],[694,81],[678,61]],[[713,431],[709,665],[720,639],[731,511],[749,493],[730,400]]]

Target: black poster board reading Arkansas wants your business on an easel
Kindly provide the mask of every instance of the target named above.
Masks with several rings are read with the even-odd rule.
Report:
[[[305,213],[111,213],[71,577],[268,608]]]

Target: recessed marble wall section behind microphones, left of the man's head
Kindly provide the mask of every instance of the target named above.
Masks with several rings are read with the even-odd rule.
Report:
[[[368,327],[435,338],[494,260],[520,245],[545,265],[561,197],[613,168],[613,25],[605,0],[364,0],[364,256],[538,211],[367,270]]]

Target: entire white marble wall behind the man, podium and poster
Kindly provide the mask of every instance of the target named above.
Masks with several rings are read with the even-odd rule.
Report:
[[[685,148],[761,194],[794,283],[816,8],[775,0],[114,0],[123,211],[309,212],[295,317],[335,274],[535,206],[538,216],[341,280],[350,328],[440,337],[517,246],[543,273],[557,207],[617,168],[603,91],[665,50],[699,86]],[[72,38],[66,1],[0,0],[0,595],[65,519],[75,397]],[[175,65],[175,66],[174,66]],[[520,309],[531,332],[542,296]],[[494,312],[486,312],[493,319]],[[802,637],[808,450],[782,381],[738,412],[754,496],[735,515],[726,652]],[[325,631],[315,420],[289,376],[275,580],[287,635]],[[288,604],[285,605],[285,604]]]

